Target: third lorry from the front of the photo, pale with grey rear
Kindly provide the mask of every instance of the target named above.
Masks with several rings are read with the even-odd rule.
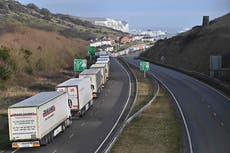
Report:
[[[102,89],[103,76],[101,75],[100,71],[100,69],[86,69],[79,74],[79,78],[90,78],[94,98],[98,97],[98,94]]]

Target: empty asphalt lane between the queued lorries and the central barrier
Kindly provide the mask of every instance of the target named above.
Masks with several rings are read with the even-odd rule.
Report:
[[[19,149],[16,152],[93,153],[107,137],[125,107],[130,82],[127,72],[111,58],[111,77],[94,106],[45,147]]]

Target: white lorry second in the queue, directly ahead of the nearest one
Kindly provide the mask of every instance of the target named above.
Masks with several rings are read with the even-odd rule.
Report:
[[[93,105],[90,78],[72,78],[56,86],[57,91],[66,91],[73,116],[82,116]]]

